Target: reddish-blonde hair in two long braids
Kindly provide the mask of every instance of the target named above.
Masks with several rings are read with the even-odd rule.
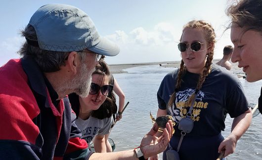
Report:
[[[197,29],[200,28],[200,29],[203,29],[205,31],[205,40],[207,41],[208,45],[211,46],[212,44],[215,44],[215,42],[216,42],[216,40],[215,40],[216,34],[215,34],[215,31],[214,31],[213,27],[208,22],[203,21],[203,20],[190,21],[183,27],[183,33],[184,33],[185,29],[187,29],[187,28],[197,28]],[[199,79],[198,79],[198,82],[197,82],[197,86],[196,86],[196,90],[188,98],[188,100],[186,101],[185,107],[190,106],[192,101],[197,96],[196,95],[197,92],[201,89],[202,84],[204,83],[206,77],[210,74],[213,56],[214,56],[214,45],[213,45],[213,48],[211,48],[210,53],[207,54],[207,61],[206,61],[205,66],[202,69],[202,73],[199,76]],[[186,67],[184,65],[184,61],[181,60],[180,68],[178,70],[178,74],[177,74],[177,78],[176,78],[175,92],[171,95],[171,97],[169,99],[169,102],[168,102],[168,106],[169,107],[172,107],[172,105],[174,104],[175,97],[176,97],[176,92],[178,91],[178,89],[181,86],[182,78],[183,78],[185,73],[186,73]]]

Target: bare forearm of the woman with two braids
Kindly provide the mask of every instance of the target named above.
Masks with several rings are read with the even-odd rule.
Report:
[[[236,139],[238,140],[248,129],[252,120],[252,112],[249,109],[244,114],[234,118],[232,127],[231,127],[231,134],[233,134]]]

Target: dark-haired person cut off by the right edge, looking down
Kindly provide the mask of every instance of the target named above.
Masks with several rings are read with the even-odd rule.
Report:
[[[227,9],[231,18],[231,41],[235,49],[231,61],[243,68],[246,80],[262,80],[262,0],[237,0]],[[262,88],[259,97],[262,113]]]

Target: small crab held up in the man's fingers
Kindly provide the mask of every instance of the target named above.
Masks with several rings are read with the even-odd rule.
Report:
[[[168,122],[168,120],[172,120],[173,126],[175,126],[175,120],[170,115],[159,116],[157,119],[155,119],[150,112],[150,118],[153,123],[156,122],[158,124],[159,126],[158,131],[160,132],[163,132],[164,128],[166,128],[166,123]],[[173,133],[175,133],[174,127],[173,127]]]

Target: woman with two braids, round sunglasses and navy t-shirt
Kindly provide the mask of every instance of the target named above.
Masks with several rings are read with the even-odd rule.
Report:
[[[183,137],[178,152],[180,160],[216,160],[221,152],[218,147],[225,150],[224,157],[232,154],[237,140],[251,123],[252,114],[241,83],[225,69],[212,64],[215,38],[209,23],[188,22],[178,44],[182,57],[180,68],[165,76],[157,93],[157,116],[169,114],[176,122],[170,141],[173,150],[177,149],[181,137],[178,123],[193,104],[189,116],[194,126]],[[234,120],[231,134],[224,139],[221,131],[225,128],[227,113]],[[166,160],[166,151],[163,160]]]

